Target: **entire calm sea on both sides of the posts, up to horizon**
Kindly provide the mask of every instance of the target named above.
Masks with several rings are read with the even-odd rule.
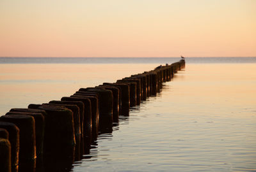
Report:
[[[0,116],[179,57],[0,57]],[[67,171],[256,171],[256,57],[187,57]]]

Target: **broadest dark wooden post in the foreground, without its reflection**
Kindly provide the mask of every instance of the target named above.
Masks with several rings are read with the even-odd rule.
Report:
[[[73,113],[63,106],[29,104],[28,108],[45,110],[45,154],[74,153],[76,145]],[[72,155],[71,155],[72,154]]]

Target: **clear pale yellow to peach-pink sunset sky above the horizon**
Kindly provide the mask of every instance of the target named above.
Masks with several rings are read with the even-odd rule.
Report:
[[[0,57],[255,57],[255,0],[0,0]]]

